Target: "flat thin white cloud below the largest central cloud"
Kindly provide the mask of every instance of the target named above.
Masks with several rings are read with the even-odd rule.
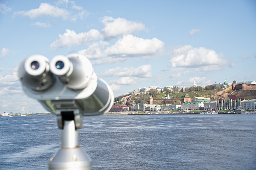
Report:
[[[124,76],[124,77],[151,77],[151,65],[142,65],[138,68],[125,67],[114,68],[105,71],[102,76]]]

